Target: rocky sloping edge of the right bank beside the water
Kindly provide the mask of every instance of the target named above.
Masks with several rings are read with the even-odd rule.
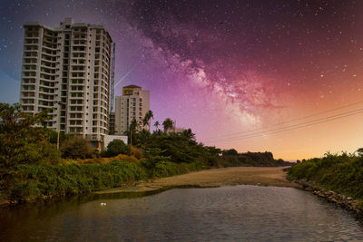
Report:
[[[312,192],[320,198],[325,198],[340,208],[345,208],[358,215],[363,215],[363,203],[358,199],[348,197],[331,189],[324,189],[322,186],[319,186],[319,184],[316,184],[316,182],[308,181],[307,179],[293,180],[293,182],[299,184],[302,189]]]

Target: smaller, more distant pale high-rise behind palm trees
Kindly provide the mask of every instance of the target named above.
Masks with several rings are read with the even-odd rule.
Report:
[[[137,130],[142,130],[142,120],[150,110],[150,91],[142,90],[140,86],[129,85],[123,87],[123,96],[116,96],[114,131],[117,135],[123,135],[127,131],[132,120],[137,122]],[[150,127],[145,126],[145,129]]]

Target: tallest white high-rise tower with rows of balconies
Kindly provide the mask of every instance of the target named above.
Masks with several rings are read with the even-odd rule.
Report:
[[[101,25],[65,18],[53,28],[26,23],[20,102],[23,111],[53,109],[48,128],[95,144],[108,133],[113,40]]]

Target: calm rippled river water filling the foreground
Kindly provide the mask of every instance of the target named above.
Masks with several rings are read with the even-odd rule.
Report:
[[[0,241],[363,241],[347,211],[299,189],[256,186],[0,208],[0,228]]]

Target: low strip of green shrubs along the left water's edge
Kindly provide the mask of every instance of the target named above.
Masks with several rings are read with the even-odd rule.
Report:
[[[138,180],[183,174],[202,165],[160,162],[148,169],[144,162],[112,160],[106,164],[20,165],[2,176],[0,201],[20,202],[130,186]]]

